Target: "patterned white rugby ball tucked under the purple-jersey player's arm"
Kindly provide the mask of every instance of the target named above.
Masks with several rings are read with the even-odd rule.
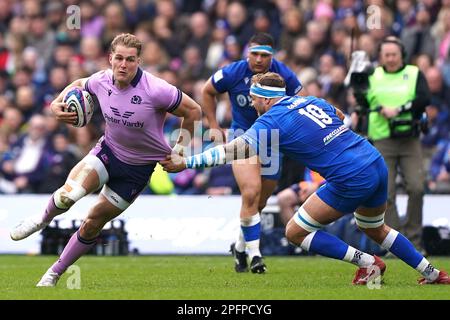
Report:
[[[74,127],[84,127],[91,121],[95,105],[89,92],[81,88],[72,88],[67,92],[63,101],[67,104],[68,112],[77,113],[77,121],[72,124]]]

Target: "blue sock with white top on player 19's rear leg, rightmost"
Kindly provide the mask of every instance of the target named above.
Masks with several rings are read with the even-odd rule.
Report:
[[[403,260],[414,269],[423,259],[423,255],[414,248],[413,244],[404,235],[394,229],[389,231],[381,247],[389,250],[397,258]]]

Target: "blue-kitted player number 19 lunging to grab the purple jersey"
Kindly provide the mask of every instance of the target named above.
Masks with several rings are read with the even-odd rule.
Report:
[[[189,158],[168,155],[161,162],[165,170],[220,165],[268,149],[275,157],[283,152],[327,181],[289,221],[286,236],[290,242],[357,265],[353,284],[367,284],[384,273],[384,262],[321,230],[342,215],[354,213],[359,228],[423,276],[420,284],[450,284],[446,272],[434,268],[408,239],[384,223],[388,176],[384,160],[369,142],[343,124],[338,109],[316,97],[286,96],[285,82],[275,73],[254,76],[250,94],[261,116],[243,136]],[[279,139],[273,140],[273,135]]]

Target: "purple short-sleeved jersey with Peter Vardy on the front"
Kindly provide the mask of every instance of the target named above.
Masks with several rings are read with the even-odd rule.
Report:
[[[163,135],[165,116],[180,104],[181,91],[140,68],[125,89],[118,89],[113,81],[108,69],[93,74],[85,84],[100,103],[106,145],[131,165],[164,159],[171,151]]]

